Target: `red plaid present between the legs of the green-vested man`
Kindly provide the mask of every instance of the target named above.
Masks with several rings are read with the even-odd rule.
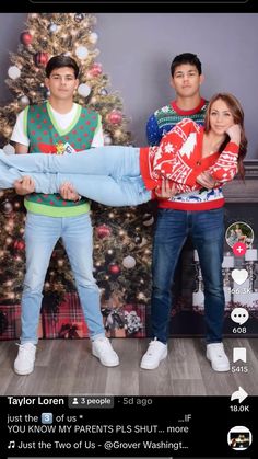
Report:
[[[46,338],[89,337],[80,299],[77,294],[66,294],[57,309],[43,308],[43,333]]]

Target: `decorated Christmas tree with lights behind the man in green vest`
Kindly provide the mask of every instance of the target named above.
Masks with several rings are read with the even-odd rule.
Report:
[[[17,53],[10,56],[7,85],[13,101],[0,108],[1,148],[14,152],[10,136],[19,112],[48,97],[44,85],[45,67],[54,55],[66,54],[77,60],[80,84],[74,102],[102,115],[105,145],[130,145],[127,119],[119,94],[108,91],[108,78],[96,61],[96,19],[84,13],[31,13],[21,33]],[[23,198],[2,191],[1,285],[2,303],[19,303],[25,268]],[[144,206],[107,208],[92,203],[95,228],[94,275],[103,292],[103,310],[121,311],[128,303],[145,305],[150,298],[151,228],[153,217]],[[58,242],[45,283],[45,299],[58,307],[62,296],[75,291],[67,255]],[[48,295],[47,295],[48,294]],[[51,296],[51,301],[49,301]],[[110,318],[109,318],[110,319]]]

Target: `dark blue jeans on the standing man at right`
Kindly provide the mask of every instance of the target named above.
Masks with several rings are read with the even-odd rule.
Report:
[[[166,343],[172,309],[172,284],[176,264],[191,234],[204,284],[207,343],[222,341],[224,290],[222,278],[224,209],[186,211],[160,209],[153,245],[151,301],[152,337]]]

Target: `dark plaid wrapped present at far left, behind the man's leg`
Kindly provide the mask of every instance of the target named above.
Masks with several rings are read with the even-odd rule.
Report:
[[[42,315],[38,337],[43,337]],[[0,341],[19,340],[21,336],[21,305],[0,305]]]

